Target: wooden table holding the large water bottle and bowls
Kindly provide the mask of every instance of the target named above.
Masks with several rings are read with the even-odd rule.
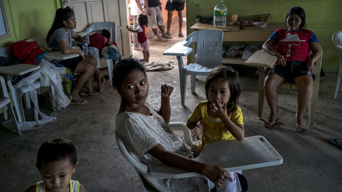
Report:
[[[226,25],[225,27],[215,27],[212,24],[196,23],[190,27],[191,32],[201,29],[216,29],[223,31],[223,41],[261,41],[265,42],[268,37],[277,29],[284,28],[284,23],[269,23],[266,27],[255,27],[254,25],[246,26],[245,29],[239,29],[238,24]],[[195,46],[192,45],[191,48],[195,50]],[[190,61],[195,62],[195,54],[192,54]],[[222,63],[231,64],[244,64],[246,60],[241,59],[241,57],[224,57],[222,58]]]

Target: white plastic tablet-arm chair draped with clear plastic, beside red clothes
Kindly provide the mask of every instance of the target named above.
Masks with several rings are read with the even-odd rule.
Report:
[[[1,47],[0,48],[0,56],[4,56],[4,57],[12,57],[12,54],[11,54],[11,51],[8,47]],[[33,70],[36,70],[38,69],[39,65],[31,65],[31,68]],[[12,65],[12,66],[8,66],[8,67],[0,67],[1,68],[1,71],[5,71],[4,74],[9,74],[9,75],[18,75],[17,72],[15,71],[15,68],[16,66],[15,65]],[[26,71],[22,74],[26,74],[28,72],[31,72],[32,70],[30,71]],[[20,74],[20,75],[22,75]],[[40,82],[40,80],[37,80],[36,82],[34,82],[34,86],[35,86],[35,89],[40,89],[40,87],[42,87],[42,84]],[[51,87],[49,88],[51,89]],[[25,103],[26,105],[28,105],[30,108],[31,104],[30,104],[30,97],[29,97],[29,94],[28,92],[32,90],[32,87],[30,86],[22,86],[20,88],[13,88],[13,86],[10,87],[10,90],[11,90],[11,93],[12,93],[12,98],[13,98],[13,101],[14,101],[14,106],[15,106],[15,110],[17,112],[17,115],[18,115],[18,121],[19,122],[25,122],[25,116],[24,116],[24,108],[23,108],[23,104],[22,104],[22,95],[24,94],[24,98],[25,98]],[[49,90],[49,93],[50,90]],[[52,104],[52,108],[54,109],[55,111],[55,107],[54,107],[54,101],[53,101],[53,98],[52,96],[50,95],[50,100],[51,100],[51,104]],[[29,103],[29,104],[27,104]],[[38,114],[35,114],[35,116],[38,116]]]

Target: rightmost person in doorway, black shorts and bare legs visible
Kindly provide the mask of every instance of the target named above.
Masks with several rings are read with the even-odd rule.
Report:
[[[168,10],[168,29],[166,31],[167,35],[171,35],[172,13],[173,11],[177,11],[178,12],[178,24],[179,24],[178,36],[184,37],[182,33],[184,7],[185,7],[185,0],[168,0],[167,1],[166,6],[165,6],[165,9]]]

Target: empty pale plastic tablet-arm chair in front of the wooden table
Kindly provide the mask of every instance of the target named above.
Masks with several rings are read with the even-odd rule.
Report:
[[[182,56],[187,56],[192,52],[192,48],[188,47],[192,42],[197,43],[197,59],[195,63],[184,67]],[[205,29],[191,33],[185,41],[176,43],[164,51],[163,55],[174,55],[178,60],[183,106],[185,105],[187,75],[191,75],[191,93],[195,93],[196,75],[209,75],[214,67],[222,65],[222,46],[223,31]]]

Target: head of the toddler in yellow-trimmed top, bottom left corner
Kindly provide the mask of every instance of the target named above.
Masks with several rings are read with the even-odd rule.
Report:
[[[77,164],[75,146],[67,139],[47,141],[38,150],[36,166],[45,187],[51,191],[69,187]]]

